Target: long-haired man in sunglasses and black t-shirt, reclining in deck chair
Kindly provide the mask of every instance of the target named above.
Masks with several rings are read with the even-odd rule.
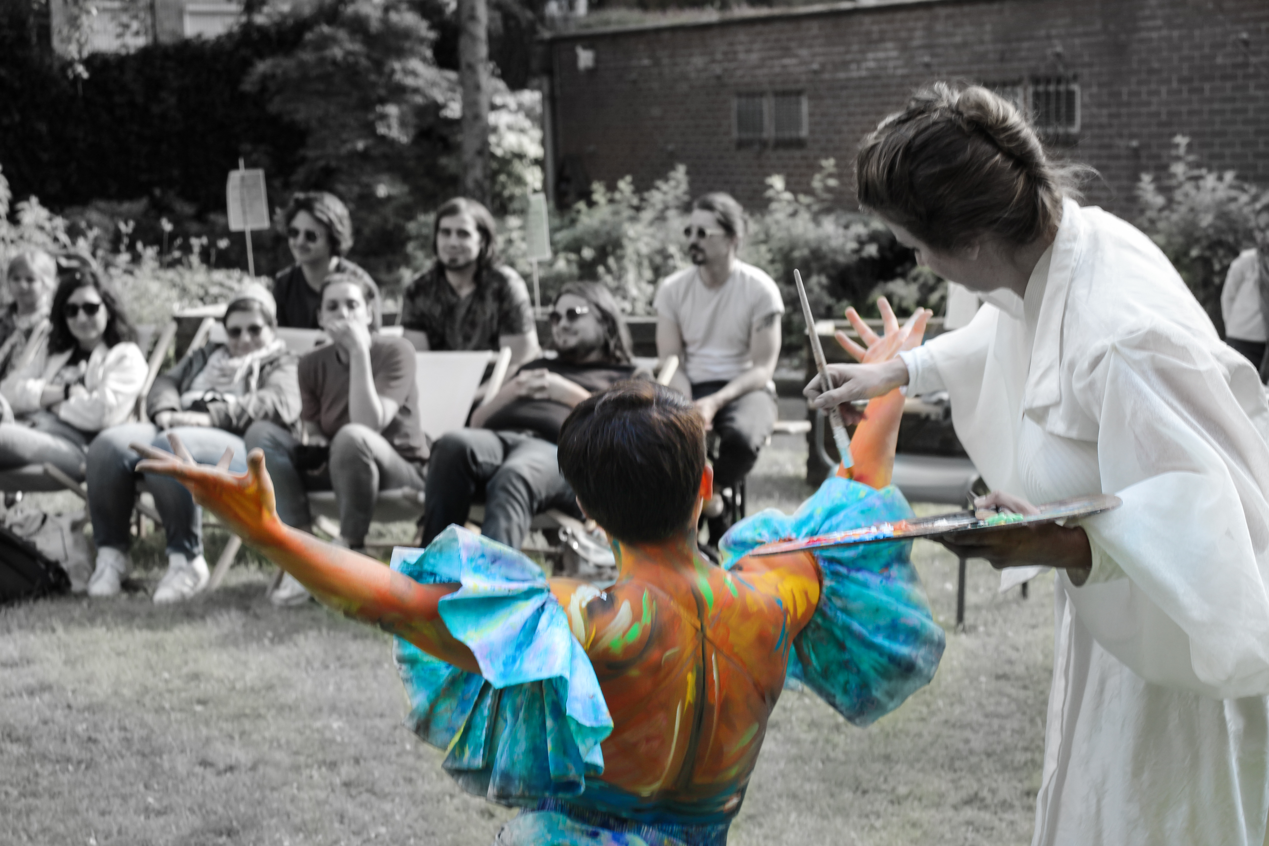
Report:
[[[433,444],[424,545],[449,524],[466,523],[481,493],[481,533],[513,549],[519,549],[534,514],[561,509],[581,516],[556,463],[560,426],[591,393],[634,374],[629,330],[603,285],[574,282],[556,298],[551,334],[557,358],[522,367],[489,405],[472,412],[471,429]]]

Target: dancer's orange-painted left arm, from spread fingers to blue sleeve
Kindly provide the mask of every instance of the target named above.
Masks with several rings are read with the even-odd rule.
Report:
[[[480,672],[476,656],[449,633],[437,608],[443,596],[458,590],[457,582],[420,585],[382,562],[283,524],[259,449],[247,455],[246,474],[235,476],[226,469],[231,452],[216,467],[197,464],[176,435],[169,439],[175,455],[132,444],[146,458],[137,471],[170,476],[184,485],[195,502],[298,578],[322,604],[397,634],[461,670]]]

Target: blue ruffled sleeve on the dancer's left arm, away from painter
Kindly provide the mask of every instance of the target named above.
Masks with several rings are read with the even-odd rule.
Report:
[[[449,526],[426,549],[397,548],[392,568],[425,585],[459,582],[439,602],[481,675],[396,639],[407,724],[447,750],[464,790],[503,804],[572,797],[604,770],[613,729],[590,658],[542,569],[519,552]]]

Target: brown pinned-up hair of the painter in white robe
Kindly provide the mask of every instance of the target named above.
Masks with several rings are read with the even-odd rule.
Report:
[[[859,205],[935,250],[982,236],[1023,246],[1053,237],[1084,165],[1056,164],[1006,99],[935,82],[869,133],[855,160]]]

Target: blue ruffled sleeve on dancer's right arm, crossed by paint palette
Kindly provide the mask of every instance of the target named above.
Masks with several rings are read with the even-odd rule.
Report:
[[[731,568],[755,547],[912,516],[896,487],[830,477],[792,516],[737,523],[720,552]],[[813,550],[824,576],[815,615],[793,642],[788,676],[857,726],[890,713],[934,677],[944,635],[912,567],[911,540]]]

